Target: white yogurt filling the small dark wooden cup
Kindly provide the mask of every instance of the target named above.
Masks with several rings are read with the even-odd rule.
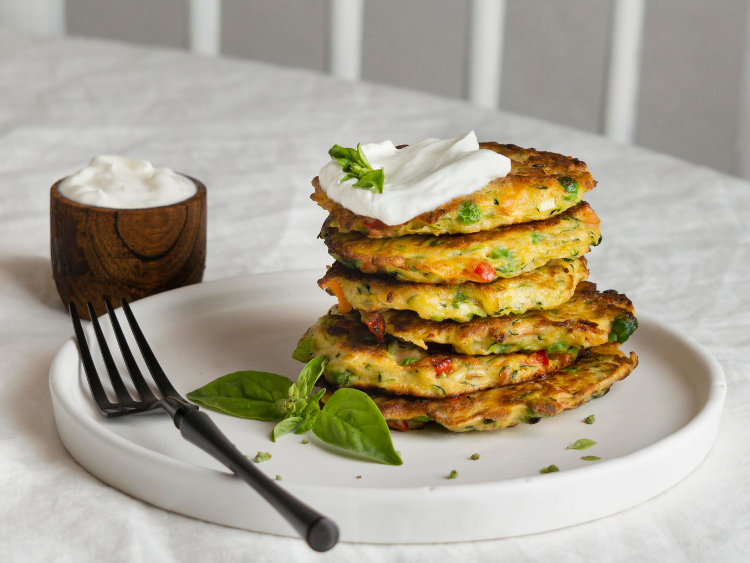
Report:
[[[162,207],[185,201],[197,187],[169,168],[146,160],[103,155],[60,183],[62,195],[85,205],[113,209]]]

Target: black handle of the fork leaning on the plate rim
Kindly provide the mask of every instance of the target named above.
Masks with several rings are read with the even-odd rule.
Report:
[[[183,411],[184,412],[184,411]],[[172,414],[170,412],[170,414]],[[219,460],[250,485],[289,522],[315,551],[328,551],[339,539],[336,523],[287,493],[255,467],[203,411],[173,416],[180,434]]]

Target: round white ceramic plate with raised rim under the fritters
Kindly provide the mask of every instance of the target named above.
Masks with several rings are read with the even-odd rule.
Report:
[[[333,304],[317,288],[320,274],[195,285],[139,301],[133,310],[183,394],[241,369],[295,378],[301,364],[290,354]],[[273,458],[259,467],[271,477],[281,475],[283,487],[335,519],[343,541],[468,541],[580,524],[679,482],[706,456],[716,435],[726,393],[719,364],[686,335],[641,312],[638,318],[640,328],[623,349],[635,350],[640,366],[605,397],[534,426],[394,432],[400,467],[334,453],[312,433],[304,436],[306,445],[293,434],[274,444],[273,423],[211,416],[251,457],[270,452]],[[95,344],[92,350],[98,356]],[[202,520],[295,535],[250,487],[183,440],[167,416],[101,418],[72,340],[52,364],[50,388],[65,446],[102,481]],[[590,414],[596,423],[584,424]],[[598,444],[585,453],[565,449],[579,438]],[[473,453],[481,459],[472,461]],[[602,461],[582,461],[587,454]],[[550,464],[560,472],[540,475]],[[458,478],[447,480],[453,469]]]

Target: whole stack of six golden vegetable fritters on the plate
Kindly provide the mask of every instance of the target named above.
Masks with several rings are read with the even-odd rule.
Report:
[[[583,255],[601,242],[581,201],[596,185],[586,164],[480,147],[510,158],[510,173],[401,225],[355,215],[313,180],[336,259],[318,284],[339,304],[295,358],[326,356],[325,385],[363,389],[393,428],[533,424],[637,364],[618,348],[637,327],[631,302],[585,281]]]

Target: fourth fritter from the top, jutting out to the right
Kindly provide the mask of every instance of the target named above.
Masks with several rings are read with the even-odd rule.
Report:
[[[368,325],[383,322],[386,333],[421,348],[426,349],[427,343],[448,344],[458,354],[472,355],[581,350],[625,342],[638,327],[627,297],[614,290],[599,292],[590,282],[580,283],[569,301],[548,311],[455,323],[425,320],[411,311],[385,310],[362,313],[362,320]]]

